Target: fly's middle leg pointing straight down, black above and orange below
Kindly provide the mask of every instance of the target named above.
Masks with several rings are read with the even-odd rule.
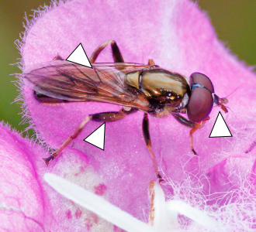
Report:
[[[146,145],[147,145],[147,150],[150,152],[150,156],[153,160],[154,171],[156,172],[157,178],[162,179],[161,175],[158,172],[156,156],[154,155],[154,152],[152,151],[150,132],[149,132],[149,121],[148,121],[146,113],[144,114],[144,120],[143,120],[143,134],[144,134],[144,139],[145,139],[145,142],[146,142]]]

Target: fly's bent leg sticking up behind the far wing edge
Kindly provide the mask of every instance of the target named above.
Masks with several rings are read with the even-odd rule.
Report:
[[[115,63],[124,63],[123,56],[119,50],[119,47],[116,44],[115,40],[108,40],[105,43],[102,43],[98,48],[95,49],[95,51],[92,53],[92,56],[90,57],[90,62],[95,63],[97,60],[97,57],[99,56],[99,53],[102,52],[103,49],[106,48],[106,46],[111,45],[112,49],[112,57]]]

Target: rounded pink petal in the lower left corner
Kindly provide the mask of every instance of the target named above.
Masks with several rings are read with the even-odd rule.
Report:
[[[0,230],[43,231],[43,194],[28,139],[0,125]]]

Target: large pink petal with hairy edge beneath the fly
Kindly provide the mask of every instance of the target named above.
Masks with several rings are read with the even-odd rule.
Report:
[[[153,150],[168,179],[181,183],[189,172],[199,180],[204,176],[205,194],[224,192],[227,184],[239,189],[240,186],[234,185],[237,173],[243,173],[246,178],[256,154],[256,149],[250,154],[244,153],[256,138],[253,107],[256,79],[251,68],[238,61],[216,39],[208,17],[195,3],[188,0],[67,2],[42,15],[29,29],[21,49],[24,67],[50,61],[57,53],[66,58],[79,43],[90,56],[109,39],[116,40],[126,62],[147,63],[153,58],[157,65],[187,77],[195,71],[205,73],[220,97],[239,87],[228,97],[228,106],[234,114],[231,111],[223,114],[233,137],[209,138],[220,111],[215,107],[205,127],[194,134],[199,156],[193,156],[190,151],[189,128],[171,116],[150,117]],[[103,53],[99,62],[112,62],[109,53]],[[58,148],[88,114],[120,108],[93,102],[49,106],[36,101],[29,87],[23,88],[23,94],[36,131],[53,148]],[[143,114],[138,112],[122,121],[107,123],[105,151],[83,141],[100,125],[89,122],[60,158],[48,168],[41,161],[36,162],[36,171],[40,176],[50,171],[75,179],[83,173],[81,169],[85,169],[95,176],[86,179],[92,188],[105,185],[105,196],[111,203],[145,221],[148,183],[155,177],[141,130],[142,118]],[[92,165],[90,169],[88,163]],[[78,178],[77,182],[82,180],[83,177]],[[167,191],[171,193],[170,189]],[[55,200],[57,193],[50,192],[48,197]],[[60,201],[54,200],[49,200],[48,210],[50,206],[57,210]],[[216,203],[214,196],[210,203]],[[74,223],[75,215],[79,214],[77,210],[80,209],[74,207],[62,214],[58,212],[56,224],[64,219]],[[85,224],[91,225],[92,221],[94,219]]]

